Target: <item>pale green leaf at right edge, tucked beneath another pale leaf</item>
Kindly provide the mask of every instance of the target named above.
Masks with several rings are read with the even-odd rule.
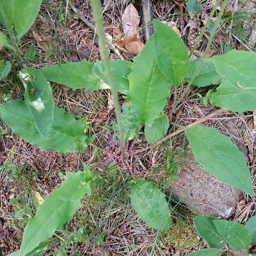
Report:
[[[212,92],[210,103],[239,113],[253,111],[256,109],[256,87],[243,89],[237,84],[222,80],[216,92]]]

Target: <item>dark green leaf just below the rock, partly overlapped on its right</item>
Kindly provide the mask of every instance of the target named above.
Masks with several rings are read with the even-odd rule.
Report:
[[[200,215],[194,218],[194,224],[198,234],[207,241],[210,247],[221,248],[224,240],[213,224],[214,218]]]

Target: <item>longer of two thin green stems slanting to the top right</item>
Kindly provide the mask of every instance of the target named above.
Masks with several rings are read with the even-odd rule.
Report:
[[[192,78],[189,80],[189,83],[188,83],[188,85],[187,85],[187,87],[186,87],[186,89],[185,89],[185,91],[184,91],[184,93],[183,93],[184,96],[182,96],[181,99],[182,99],[183,97],[186,97],[187,93],[188,93],[189,90],[190,90],[190,86],[191,86],[192,82],[194,81],[195,77],[198,75],[198,72],[201,70],[201,67],[203,66],[203,64],[204,64],[204,62],[205,62],[205,58],[207,57],[207,54],[208,54],[209,49],[210,49],[210,47],[211,47],[212,40],[213,40],[213,38],[214,38],[215,32],[216,32],[216,30],[217,30],[217,27],[218,27],[218,24],[219,24],[219,22],[220,22],[220,20],[221,20],[221,17],[222,17],[222,15],[223,15],[223,13],[224,13],[224,10],[225,10],[226,5],[227,5],[227,0],[224,0],[224,1],[223,1],[223,4],[222,4],[222,6],[221,6],[221,10],[220,10],[220,12],[219,12],[219,14],[218,14],[218,17],[217,17],[217,19],[215,20],[214,27],[213,27],[213,29],[212,29],[212,33],[211,33],[211,35],[210,35],[210,37],[209,37],[209,40],[208,40],[208,42],[207,42],[207,45],[206,45],[206,48],[205,48],[205,51],[204,51],[204,55],[203,55],[203,59],[202,59],[202,61],[200,62],[200,64],[198,65],[197,70],[195,70],[195,73],[193,74]]]

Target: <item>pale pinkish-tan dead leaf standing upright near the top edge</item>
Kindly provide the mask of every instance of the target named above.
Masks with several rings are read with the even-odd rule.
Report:
[[[140,16],[133,4],[129,4],[122,15],[122,29],[124,35],[134,35],[139,37],[137,29],[140,24]]]

